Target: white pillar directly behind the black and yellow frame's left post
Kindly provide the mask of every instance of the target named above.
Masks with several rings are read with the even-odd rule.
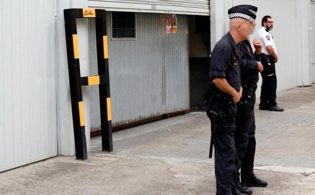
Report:
[[[68,60],[66,49],[66,37],[65,37],[65,22],[63,10],[69,8],[84,8],[87,6],[86,0],[57,0],[57,37],[56,37],[56,55],[57,55],[57,111],[58,111],[58,153],[63,155],[74,155],[74,133],[72,123],[72,109],[70,99],[70,85],[69,85],[69,72],[68,72]],[[87,75],[88,72],[88,60],[87,60],[87,42],[88,33],[87,25],[83,21],[79,21],[77,24],[77,31],[79,33],[79,57],[80,57],[80,69],[81,75]],[[81,46],[81,47],[80,47]],[[87,93],[83,90],[83,104],[84,104],[84,118],[85,118],[85,135],[87,149],[89,149],[89,120],[88,120],[88,105],[86,101]],[[85,101],[84,101],[85,100]]]

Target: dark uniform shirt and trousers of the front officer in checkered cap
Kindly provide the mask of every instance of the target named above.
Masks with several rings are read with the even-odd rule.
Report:
[[[216,194],[231,195],[236,180],[237,154],[234,140],[236,105],[232,97],[217,89],[212,80],[225,78],[236,91],[241,87],[239,49],[230,32],[213,48],[210,60],[210,101],[205,105],[214,136]]]

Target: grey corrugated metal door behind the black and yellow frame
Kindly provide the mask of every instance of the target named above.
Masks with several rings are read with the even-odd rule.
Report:
[[[109,38],[113,125],[189,108],[188,18],[166,34],[165,14],[136,13],[135,40]],[[107,13],[111,37],[111,13]],[[95,24],[90,23],[90,75],[97,74]],[[90,88],[92,128],[100,127],[98,88]]]

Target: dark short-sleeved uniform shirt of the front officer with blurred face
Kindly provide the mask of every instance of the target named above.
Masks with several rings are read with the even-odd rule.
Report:
[[[230,32],[216,43],[210,60],[210,81],[225,78],[236,91],[241,88],[240,51]]]

